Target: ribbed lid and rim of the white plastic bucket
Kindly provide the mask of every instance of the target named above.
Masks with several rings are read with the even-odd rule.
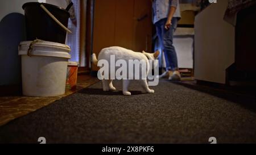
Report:
[[[28,48],[33,41],[22,41],[19,44],[19,55],[28,55]],[[71,58],[68,45],[40,40],[32,45],[31,56],[51,56]]]

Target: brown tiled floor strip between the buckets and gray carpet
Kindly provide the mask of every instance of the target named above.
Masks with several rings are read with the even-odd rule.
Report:
[[[68,90],[64,95],[57,97],[0,97],[0,125],[6,124],[15,118],[19,118],[20,116],[47,106],[55,100],[76,93],[97,81],[97,78],[93,78],[88,75],[81,75],[77,78],[76,90]]]

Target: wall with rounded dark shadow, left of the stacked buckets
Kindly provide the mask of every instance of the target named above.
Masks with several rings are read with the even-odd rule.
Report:
[[[20,57],[18,45],[24,41],[24,11],[22,5],[29,0],[2,0],[0,5],[0,86],[19,85]]]

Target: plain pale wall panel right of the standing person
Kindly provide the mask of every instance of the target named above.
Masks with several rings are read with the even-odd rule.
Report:
[[[234,62],[235,29],[223,20],[228,0],[217,1],[196,15],[195,78],[225,83]]]

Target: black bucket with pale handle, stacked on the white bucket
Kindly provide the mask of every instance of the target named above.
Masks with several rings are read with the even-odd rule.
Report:
[[[22,8],[25,12],[27,41],[35,39],[65,44],[67,31],[40,7],[42,5],[65,27],[68,27],[69,12],[47,3],[28,2]]]

